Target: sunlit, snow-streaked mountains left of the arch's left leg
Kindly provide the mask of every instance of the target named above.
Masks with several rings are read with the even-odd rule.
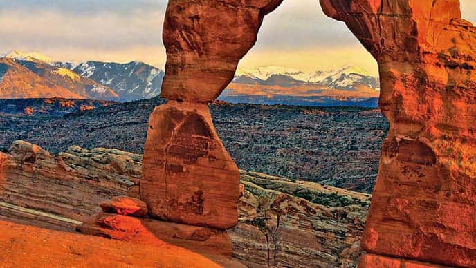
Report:
[[[127,102],[159,95],[164,75],[163,70],[140,61],[75,64],[14,50],[0,57],[0,98],[66,97]]]

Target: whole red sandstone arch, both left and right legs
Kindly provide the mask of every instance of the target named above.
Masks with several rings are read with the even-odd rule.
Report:
[[[163,164],[168,157],[164,137],[170,133],[161,134],[156,126],[172,111],[182,111],[201,115],[213,130],[205,104],[231,81],[239,59],[255,44],[264,15],[281,2],[169,1],[162,96],[172,102],[156,108],[151,117],[141,196],[152,209],[173,209],[167,193],[157,196],[152,192],[166,182],[167,189],[171,185],[180,189],[179,199],[194,200],[194,191],[181,188],[193,181],[208,191],[201,198],[210,200],[215,194],[215,199],[209,204],[208,216],[161,218],[219,228],[236,222],[214,221],[235,217],[232,210],[239,180],[237,167],[216,133],[212,131],[210,140],[217,146],[207,149],[200,164],[185,163],[181,173],[172,175],[172,168]],[[378,62],[379,106],[391,125],[363,238],[365,250],[376,255],[367,255],[361,265],[410,267],[397,259],[402,258],[475,267],[476,28],[461,19],[459,0],[320,3],[329,17],[347,24]],[[167,126],[173,129],[176,124],[172,120]],[[214,166],[215,160],[219,166]],[[212,169],[217,176],[207,179],[210,167],[218,167]],[[227,194],[217,194],[224,192]],[[184,215],[193,214],[181,209]],[[210,220],[214,215],[220,216]]]

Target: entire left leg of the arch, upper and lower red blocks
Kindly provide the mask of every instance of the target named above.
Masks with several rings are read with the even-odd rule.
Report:
[[[232,81],[264,15],[281,2],[169,1],[161,97],[170,102],[149,119],[140,183],[152,216],[219,229],[237,224],[239,171],[207,104]]]

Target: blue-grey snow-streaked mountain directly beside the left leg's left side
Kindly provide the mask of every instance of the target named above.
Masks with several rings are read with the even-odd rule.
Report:
[[[82,77],[113,88],[121,100],[148,99],[161,93],[163,70],[141,61],[127,64],[84,61],[72,69]]]

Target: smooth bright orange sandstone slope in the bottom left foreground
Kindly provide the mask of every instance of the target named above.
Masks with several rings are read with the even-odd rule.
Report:
[[[0,221],[1,267],[239,267],[164,241],[138,244]]]

